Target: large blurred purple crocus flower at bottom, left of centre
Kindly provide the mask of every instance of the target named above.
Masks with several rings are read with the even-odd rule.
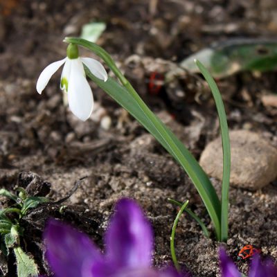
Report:
[[[105,255],[87,235],[58,220],[44,231],[46,258],[55,277],[181,277],[151,267],[153,233],[136,202],[121,199],[105,234]]]

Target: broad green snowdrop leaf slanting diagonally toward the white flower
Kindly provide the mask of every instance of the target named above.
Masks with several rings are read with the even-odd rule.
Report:
[[[157,116],[155,116],[150,109],[145,105],[148,115],[145,116],[145,112],[141,109],[137,100],[135,100],[125,89],[120,86],[118,82],[109,78],[107,82],[103,82],[100,79],[94,77],[90,72],[86,71],[91,80],[96,82],[99,87],[105,90],[111,98],[114,98],[122,107],[129,111],[136,120],[145,127],[145,129],[154,136],[161,145],[174,157],[180,165],[186,170],[190,179],[192,179],[195,187],[197,188],[199,195],[202,197],[204,205],[208,211],[208,214],[215,226],[215,233],[217,239],[220,240],[220,200],[217,197],[215,189],[213,188],[211,181],[208,179],[206,173],[199,166],[192,154],[186,149],[186,147],[172,134],[170,129],[164,125]],[[149,118],[151,116],[151,119]],[[153,123],[154,120],[154,123]],[[170,140],[170,143],[168,143]]]

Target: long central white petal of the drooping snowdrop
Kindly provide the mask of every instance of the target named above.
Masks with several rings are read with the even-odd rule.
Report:
[[[91,87],[84,76],[84,68],[81,60],[69,60],[71,73],[69,78],[69,108],[80,120],[87,120],[93,109],[93,96]]]

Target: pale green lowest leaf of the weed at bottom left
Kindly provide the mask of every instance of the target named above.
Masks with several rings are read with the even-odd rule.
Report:
[[[17,276],[18,277],[33,277],[38,276],[37,265],[33,258],[28,256],[20,247],[13,249],[17,260]]]

